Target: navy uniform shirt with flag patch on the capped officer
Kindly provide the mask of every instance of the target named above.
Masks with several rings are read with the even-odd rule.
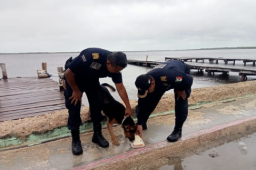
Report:
[[[193,84],[193,77],[190,75],[189,65],[182,61],[174,60],[161,63],[147,73],[155,80],[155,92],[165,92],[170,89],[177,89],[179,91],[188,90]],[[138,124],[144,124],[148,105],[150,101],[146,98],[139,98],[138,102]],[[154,99],[153,99],[154,100]],[[152,100],[152,101],[153,101]],[[154,102],[154,101],[153,101]]]

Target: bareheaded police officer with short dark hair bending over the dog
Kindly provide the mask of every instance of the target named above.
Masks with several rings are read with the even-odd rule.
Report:
[[[103,116],[101,114],[102,96],[99,78],[112,78],[119,96],[126,105],[125,115],[130,116],[132,110],[127,92],[122,83],[121,74],[121,71],[127,66],[126,55],[122,52],[109,52],[100,48],[87,48],[74,60],[67,61],[66,65],[68,65],[68,69],[65,72],[67,80],[65,99],[69,113],[68,129],[71,130],[72,135],[72,152],[74,155],[79,155],[83,152],[79,138],[79,126],[82,123],[80,110],[83,92],[85,92],[90,105],[94,130],[92,142],[106,148],[109,143],[101,133]]]

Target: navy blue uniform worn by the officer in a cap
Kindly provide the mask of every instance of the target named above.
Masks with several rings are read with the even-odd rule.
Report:
[[[156,108],[159,100],[165,91],[170,89],[183,91],[185,90],[187,98],[190,96],[193,77],[190,75],[190,67],[182,61],[167,61],[161,63],[147,73],[156,82],[155,90],[145,98],[139,98],[138,101],[138,124],[145,124],[149,115]],[[175,94],[175,117],[176,121],[183,123],[188,116],[188,99],[183,100],[181,97],[177,100]]]

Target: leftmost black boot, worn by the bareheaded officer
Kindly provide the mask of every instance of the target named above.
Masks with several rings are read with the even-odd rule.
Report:
[[[74,155],[80,155],[83,153],[83,149],[81,146],[80,140],[80,131],[79,130],[72,130],[72,152]]]

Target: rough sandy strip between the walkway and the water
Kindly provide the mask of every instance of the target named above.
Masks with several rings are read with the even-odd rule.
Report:
[[[189,104],[195,105],[202,101],[218,101],[229,98],[242,97],[245,95],[256,94],[256,81],[239,82],[233,84],[225,84],[221,86],[206,87],[193,89],[189,98]],[[135,114],[137,100],[130,100],[131,107]],[[174,110],[174,94],[165,95],[157,105],[153,113],[163,113]],[[254,107],[255,101],[251,101],[246,104],[246,107]],[[220,112],[229,114],[228,110],[233,110],[239,114],[239,110],[236,108],[223,108]],[[82,107],[81,117],[82,122],[90,120],[90,115],[87,113],[88,107]],[[200,120],[200,114],[198,114],[198,120]],[[56,111],[47,113],[45,115],[28,117],[20,120],[5,121],[0,123],[0,138],[18,137],[25,140],[31,133],[45,133],[54,128],[66,126],[68,120],[67,110]],[[209,120],[205,120],[207,123]]]

